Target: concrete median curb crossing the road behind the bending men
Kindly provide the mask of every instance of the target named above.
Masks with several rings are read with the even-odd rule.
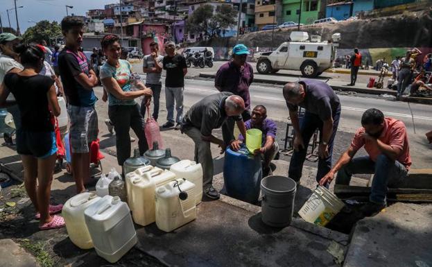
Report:
[[[200,78],[216,78],[216,75],[200,73]],[[286,81],[255,78],[254,83],[269,83],[272,85],[285,85]],[[335,91],[340,91],[340,92],[356,92],[359,94],[373,94],[373,95],[390,94],[390,96],[397,95],[396,91],[388,90],[388,89],[359,88],[359,87],[347,87],[347,86],[340,86],[340,85],[331,85],[331,88],[333,88]],[[426,98],[426,97],[403,96],[401,97],[401,101],[420,103],[424,105],[432,105],[432,98]]]

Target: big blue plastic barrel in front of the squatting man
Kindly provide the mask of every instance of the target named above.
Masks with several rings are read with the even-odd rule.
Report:
[[[261,158],[252,155],[248,148],[239,151],[227,148],[223,164],[223,180],[228,196],[248,203],[257,203],[262,178]]]

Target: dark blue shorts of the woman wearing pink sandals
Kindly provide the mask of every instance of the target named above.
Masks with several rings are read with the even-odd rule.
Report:
[[[17,130],[17,153],[44,159],[57,153],[54,132]]]

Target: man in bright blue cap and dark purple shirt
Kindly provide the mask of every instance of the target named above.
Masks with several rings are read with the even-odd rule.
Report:
[[[223,64],[214,80],[214,86],[220,92],[231,92],[241,96],[245,102],[245,110],[241,114],[243,121],[250,120],[250,94],[249,86],[254,80],[252,66],[246,62],[249,49],[244,44],[237,44],[232,49],[232,60]],[[222,126],[223,141],[228,146],[232,144],[234,138],[234,120],[227,119]],[[235,143],[234,143],[235,144]],[[234,150],[238,147],[232,147]]]

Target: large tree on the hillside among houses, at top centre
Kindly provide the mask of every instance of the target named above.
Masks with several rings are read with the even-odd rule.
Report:
[[[190,33],[204,33],[211,38],[219,36],[221,30],[236,25],[237,11],[229,4],[216,7],[206,4],[197,8],[187,19],[187,29]]]

